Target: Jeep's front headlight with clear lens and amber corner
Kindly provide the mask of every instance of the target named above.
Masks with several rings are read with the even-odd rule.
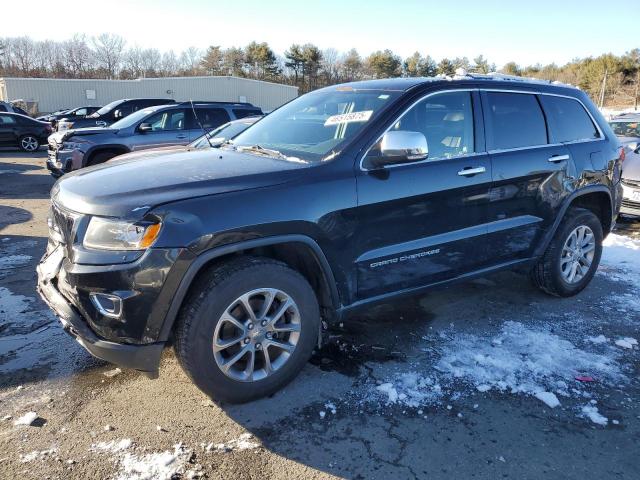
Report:
[[[83,245],[98,250],[144,250],[155,242],[160,222],[125,222],[93,217],[87,227]]]

